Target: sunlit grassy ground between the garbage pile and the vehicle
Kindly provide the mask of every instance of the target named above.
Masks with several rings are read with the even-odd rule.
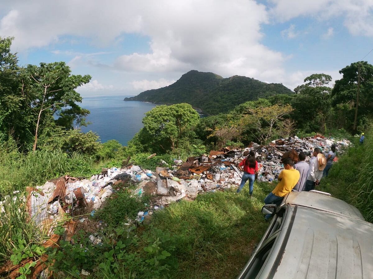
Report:
[[[264,187],[262,187],[264,186]],[[152,225],[177,235],[177,278],[232,278],[250,257],[268,224],[261,214],[268,185],[248,190],[215,192],[195,201],[174,203],[159,212]]]

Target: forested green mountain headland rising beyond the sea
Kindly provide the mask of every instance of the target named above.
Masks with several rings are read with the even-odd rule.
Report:
[[[279,83],[265,83],[243,76],[222,78],[214,73],[192,70],[169,86],[147,90],[124,100],[167,105],[189,103],[203,113],[213,115],[228,112],[246,101],[275,94],[293,92]]]

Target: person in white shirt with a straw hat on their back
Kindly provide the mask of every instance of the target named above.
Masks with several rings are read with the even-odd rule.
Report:
[[[313,151],[310,161],[310,169],[308,171],[307,180],[305,182],[305,191],[315,189],[319,185],[320,179],[323,176],[323,170],[326,167],[326,158],[321,153],[321,148],[316,147]]]

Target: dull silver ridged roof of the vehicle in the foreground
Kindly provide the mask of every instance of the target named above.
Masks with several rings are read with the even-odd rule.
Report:
[[[274,278],[371,278],[373,224],[302,206],[292,208],[295,218],[283,242],[285,250],[273,255],[277,257]]]

